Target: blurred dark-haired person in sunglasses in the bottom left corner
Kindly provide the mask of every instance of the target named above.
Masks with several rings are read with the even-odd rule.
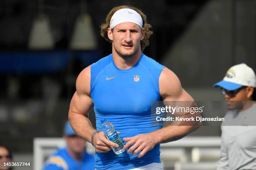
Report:
[[[11,170],[8,166],[3,166],[3,163],[12,161],[13,155],[9,148],[5,145],[0,144],[0,170]]]

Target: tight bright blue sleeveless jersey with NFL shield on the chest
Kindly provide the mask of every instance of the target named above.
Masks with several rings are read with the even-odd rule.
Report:
[[[151,102],[161,100],[159,76],[163,68],[163,65],[143,53],[140,60],[127,70],[115,66],[112,54],[93,63],[90,93],[97,130],[101,131],[100,120],[103,118],[120,132],[122,140],[162,128],[159,124],[151,123]],[[129,170],[150,163],[161,163],[160,144],[143,157],[137,156],[128,154],[127,150],[120,155],[115,155],[113,150],[108,153],[96,152],[95,168]]]

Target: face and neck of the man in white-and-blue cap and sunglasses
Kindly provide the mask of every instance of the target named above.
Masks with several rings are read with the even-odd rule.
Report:
[[[242,110],[246,110],[248,107],[251,107],[253,102],[248,102],[252,101],[252,94],[253,94],[253,87],[246,87],[242,90],[240,90],[234,97],[230,97],[228,94],[225,94],[225,100],[228,105],[229,110],[233,109],[240,109],[243,108]],[[238,102],[238,101],[244,101],[243,103]]]

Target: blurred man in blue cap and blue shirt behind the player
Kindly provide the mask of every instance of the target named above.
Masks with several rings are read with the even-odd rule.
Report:
[[[46,160],[43,170],[95,170],[95,158],[86,152],[85,140],[76,135],[69,122],[64,127],[67,143]]]

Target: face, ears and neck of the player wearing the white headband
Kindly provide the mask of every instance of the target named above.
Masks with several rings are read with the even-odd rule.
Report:
[[[115,65],[120,69],[129,69],[141,57],[141,40],[145,29],[135,23],[125,22],[108,28],[108,37],[112,40],[112,53]]]

